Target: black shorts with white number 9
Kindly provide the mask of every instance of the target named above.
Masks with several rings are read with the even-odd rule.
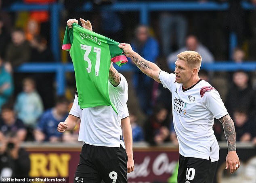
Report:
[[[127,154],[120,145],[101,147],[84,144],[74,183],[127,183]]]

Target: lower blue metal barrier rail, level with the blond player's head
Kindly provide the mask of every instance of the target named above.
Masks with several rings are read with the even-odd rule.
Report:
[[[132,67],[130,64],[125,64],[122,67],[118,67],[114,64],[115,68],[122,72],[140,72],[136,67]],[[169,65],[170,69],[174,71],[174,63]],[[165,70],[166,68],[161,68]],[[214,62],[209,64],[202,64],[201,69],[206,69],[208,71],[256,71],[256,62]],[[53,63],[25,63],[15,69],[15,72],[20,73],[56,73],[56,83],[57,83],[57,94],[63,95],[65,93],[66,79],[65,73],[74,72],[74,67],[72,63],[63,64],[60,62]]]

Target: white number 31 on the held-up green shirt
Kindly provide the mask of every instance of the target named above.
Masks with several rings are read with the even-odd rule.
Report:
[[[80,44],[81,49],[85,50],[84,60],[88,62],[88,67],[86,68],[87,73],[91,72],[92,62],[88,55],[92,51],[92,47],[84,44]],[[96,63],[95,63],[95,75],[99,76],[100,62],[101,62],[101,48],[93,47],[93,52],[96,53]]]

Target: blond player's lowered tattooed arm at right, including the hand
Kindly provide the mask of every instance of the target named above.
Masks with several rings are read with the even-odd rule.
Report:
[[[240,161],[237,156],[235,146],[235,125],[231,117],[228,115],[219,119],[223,125],[224,133],[228,143],[228,154],[226,158],[226,169],[230,169],[230,173],[234,173],[240,167]],[[238,164],[238,166],[236,166]]]

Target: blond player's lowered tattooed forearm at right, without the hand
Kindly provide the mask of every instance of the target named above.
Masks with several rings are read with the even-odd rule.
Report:
[[[219,119],[224,128],[224,133],[228,142],[228,151],[235,151],[235,125],[231,117],[228,115]]]

